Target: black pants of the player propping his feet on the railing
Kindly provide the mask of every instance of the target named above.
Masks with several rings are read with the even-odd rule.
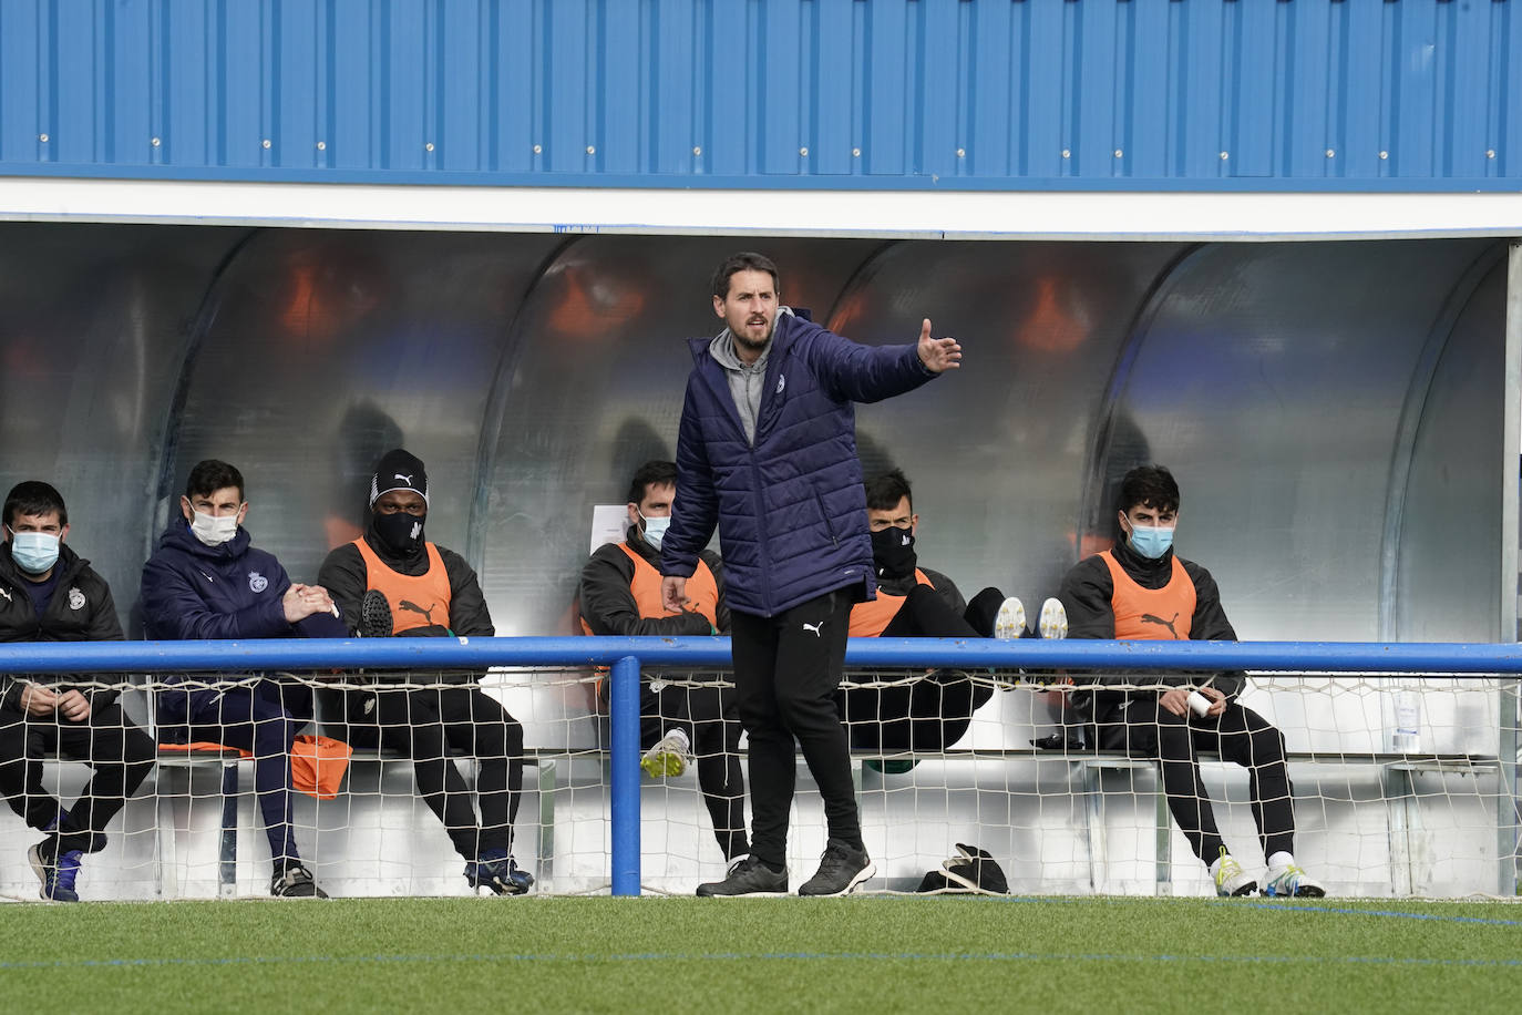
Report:
[[[881,638],[992,638],[1003,601],[998,589],[983,589],[957,613],[935,589],[916,584]],[[992,695],[992,686],[965,673],[935,670],[913,683],[851,688],[840,697],[852,747],[944,750],[966,735],[973,712]]]

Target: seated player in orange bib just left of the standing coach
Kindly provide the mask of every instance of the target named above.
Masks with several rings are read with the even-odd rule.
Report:
[[[661,539],[671,522],[676,463],[647,461],[629,484],[629,531],[621,543],[600,546],[581,569],[578,603],[587,635],[680,636],[729,633],[724,578],[718,555],[702,551],[686,581],[686,609],[661,604]],[[694,686],[697,685],[697,686]],[[606,694],[606,682],[603,692]],[[639,685],[641,762],[651,776],[682,775],[697,752],[697,784],[714,820],[714,837],[734,861],[750,852],[746,838],[746,784],[740,767],[740,717],[734,688],[718,674],[683,674],[659,691]]]

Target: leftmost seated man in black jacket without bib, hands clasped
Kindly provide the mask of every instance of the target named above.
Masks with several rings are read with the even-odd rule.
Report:
[[[0,641],[122,641],[111,589],[64,542],[68,508],[46,482],[20,482],[5,499],[0,548]],[[81,679],[85,677],[85,679]],[[84,854],[105,846],[105,826],[148,778],[158,753],[116,703],[102,674],[0,677],[0,793],[27,825],[47,832],[27,858],[41,896],[78,902],[75,878]],[[56,750],[94,775],[73,807],[43,788],[40,756]]]

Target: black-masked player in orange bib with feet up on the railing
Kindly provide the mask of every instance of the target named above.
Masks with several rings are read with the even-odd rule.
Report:
[[[851,638],[1026,638],[1026,610],[998,589],[963,603],[951,578],[921,568],[915,552],[919,516],[898,469],[866,481],[866,516],[877,568],[877,598],[851,610]],[[1062,638],[1062,604],[1041,607],[1043,638]],[[895,686],[842,692],[851,746],[866,750],[942,750],[962,740],[973,712],[994,694],[957,670],[935,670]]]

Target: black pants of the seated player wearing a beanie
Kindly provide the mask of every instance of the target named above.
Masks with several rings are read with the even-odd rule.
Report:
[[[350,726],[377,726],[384,747],[412,759],[417,793],[443,822],[455,852],[476,860],[490,849],[511,851],[524,790],[524,727],[499,702],[475,688],[376,688],[344,694],[344,714]],[[479,762],[479,825],[451,749]]]

